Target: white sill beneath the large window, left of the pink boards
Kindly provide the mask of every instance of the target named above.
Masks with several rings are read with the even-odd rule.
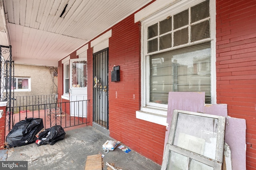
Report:
[[[155,107],[141,107],[136,111],[136,118],[167,126],[167,109]]]

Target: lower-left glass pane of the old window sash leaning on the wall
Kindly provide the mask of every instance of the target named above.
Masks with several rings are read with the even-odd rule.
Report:
[[[167,170],[187,170],[188,157],[171,151]]]

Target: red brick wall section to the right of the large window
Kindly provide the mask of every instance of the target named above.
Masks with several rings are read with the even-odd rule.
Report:
[[[216,1],[217,103],[246,119],[246,169],[256,170],[256,1]]]

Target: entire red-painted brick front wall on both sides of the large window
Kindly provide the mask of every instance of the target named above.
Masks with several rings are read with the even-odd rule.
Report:
[[[109,75],[114,65],[120,66],[120,82],[111,82],[109,76],[110,136],[162,164],[166,127],[136,119],[141,102],[140,23],[134,23],[134,15],[131,15],[110,29]],[[92,62],[92,48],[89,47],[90,122]],[[216,89],[217,104],[228,104],[228,115],[246,119],[246,169],[256,170],[255,0],[216,0]]]

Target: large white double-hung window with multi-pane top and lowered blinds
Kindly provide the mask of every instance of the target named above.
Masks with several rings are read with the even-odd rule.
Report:
[[[182,0],[142,21],[142,107],[167,108],[170,91],[214,103],[212,14],[210,0]]]

